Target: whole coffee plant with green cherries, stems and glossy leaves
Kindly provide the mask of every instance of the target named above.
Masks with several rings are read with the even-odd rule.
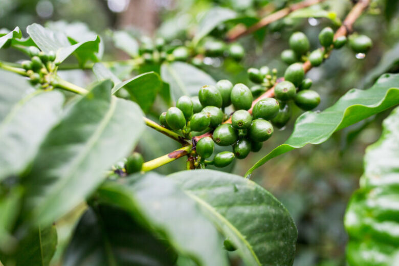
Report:
[[[399,74],[375,72],[369,88],[348,90],[321,112],[334,99],[306,76],[338,49],[357,58],[372,51],[355,23],[379,13],[381,1],[351,1],[342,18],[323,0],[277,1],[272,11],[271,1],[214,2],[184,38],[104,37],[62,21],[0,31],[0,48],[20,52],[0,61],[0,264],[292,265],[294,219],[252,172],[387,109],[343,223],[348,265],[399,264]],[[290,28],[315,17],[328,24],[316,38],[306,26]],[[285,28],[283,72],[251,66],[247,84],[207,73],[224,61],[242,68],[251,51],[241,37],[261,43],[266,29]],[[103,60],[108,43],[130,58]],[[397,51],[384,58],[397,60]],[[65,75],[74,69],[90,85]],[[265,152],[290,123],[291,136]],[[163,152],[167,139],[179,146]],[[245,176],[230,173],[256,152]],[[159,171],[174,161],[186,170]]]

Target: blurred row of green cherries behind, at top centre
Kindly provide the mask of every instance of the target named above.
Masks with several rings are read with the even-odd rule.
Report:
[[[239,43],[226,45],[225,42],[211,37],[206,38],[197,48],[192,48],[189,42],[186,45],[175,45],[173,42],[166,43],[163,38],[152,40],[142,37],[139,52],[144,63],[188,61],[197,66],[203,64],[204,57],[230,57],[239,61],[245,54]]]

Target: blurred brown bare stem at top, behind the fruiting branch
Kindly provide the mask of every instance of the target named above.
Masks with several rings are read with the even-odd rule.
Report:
[[[305,0],[302,1],[300,3],[297,4],[293,4],[289,7],[283,8],[273,14],[270,14],[268,16],[263,17],[258,23],[256,23],[255,25],[252,25],[249,28],[242,28],[242,27],[234,27],[228,34],[227,34],[227,40],[228,41],[234,41],[244,35],[250,34],[252,32],[255,32],[263,27],[268,26],[269,24],[271,24],[272,22],[279,20],[287,15],[289,15],[290,13],[298,10],[298,9],[302,9],[302,8],[306,8],[315,4],[319,4],[324,2],[325,0]]]

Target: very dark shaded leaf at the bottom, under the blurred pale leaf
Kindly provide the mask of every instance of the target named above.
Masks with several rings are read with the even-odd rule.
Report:
[[[121,209],[100,205],[81,217],[63,266],[169,266],[175,254]]]

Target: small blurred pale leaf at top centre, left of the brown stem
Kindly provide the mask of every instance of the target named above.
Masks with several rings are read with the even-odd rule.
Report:
[[[237,16],[233,10],[221,7],[210,9],[198,23],[198,28],[193,38],[194,45],[197,45],[202,38],[210,33],[216,26]]]

